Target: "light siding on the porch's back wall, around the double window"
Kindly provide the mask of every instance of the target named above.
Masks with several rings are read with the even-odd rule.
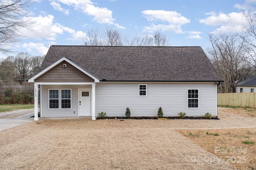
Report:
[[[41,85],[41,117],[78,117],[78,88],[92,88],[91,85]],[[71,109],[49,109],[48,89],[71,89]],[[74,113],[76,111],[76,113]]]

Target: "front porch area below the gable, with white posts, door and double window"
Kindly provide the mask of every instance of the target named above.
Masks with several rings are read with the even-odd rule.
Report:
[[[40,89],[38,86],[40,85]],[[38,92],[40,91],[40,115],[41,118],[49,119],[88,119],[96,120],[95,117],[95,86],[94,82],[84,82],[84,83],[34,83],[34,121],[38,121]],[[54,89],[57,93],[54,94],[55,105],[52,107],[51,104],[51,91]],[[62,91],[68,89],[70,92],[69,105],[68,107],[63,107],[64,94]],[[82,100],[82,92],[88,91],[85,98]],[[57,102],[56,102],[57,101]]]

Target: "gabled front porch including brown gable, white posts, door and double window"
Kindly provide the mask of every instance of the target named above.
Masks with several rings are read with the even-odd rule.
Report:
[[[34,121],[38,121],[39,85],[41,117],[96,119],[95,86],[99,80],[70,59],[62,57],[28,82],[34,83]]]

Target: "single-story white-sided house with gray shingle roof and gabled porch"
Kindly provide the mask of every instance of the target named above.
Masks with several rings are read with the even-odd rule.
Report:
[[[201,47],[50,47],[38,85],[41,117],[217,116],[217,85],[222,82]]]

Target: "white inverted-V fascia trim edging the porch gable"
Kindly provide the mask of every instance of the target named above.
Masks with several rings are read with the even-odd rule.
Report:
[[[94,77],[92,74],[88,73],[87,71],[85,71],[84,69],[82,69],[80,66],[76,65],[75,63],[73,63],[72,61],[70,61],[69,59],[67,59],[66,57],[62,57],[61,59],[59,59],[58,61],[56,61],[55,63],[53,63],[52,65],[48,66],[47,68],[45,68],[44,70],[42,70],[41,72],[39,72],[38,74],[36,74],[35,76],[33,76],[32,78],[30,78],[28,80],[29,83],[35,82],[35,79],[42,76],[44,73],[48,72],[50,69],[54,68],[56,65],[60,64],[62,61],[66,61],[69,64],[71,64],[72,66],[76,67],[78,70],[82,71],[84,74],[88,75],[90,78],[94,79],[94,82],[100,82],[100,80],[96,77]]]

